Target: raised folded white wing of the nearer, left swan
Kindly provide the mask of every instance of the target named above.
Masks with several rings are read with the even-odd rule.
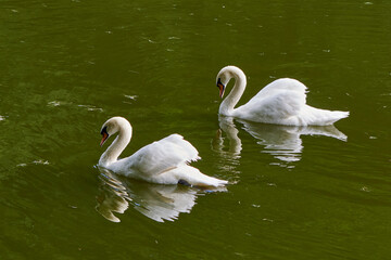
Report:
[[[140,148],[126,160],[130,171],[152,177],[199,158],[195,147],[175,133]]]

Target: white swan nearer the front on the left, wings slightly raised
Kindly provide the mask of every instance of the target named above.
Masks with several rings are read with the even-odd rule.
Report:
[[[193,186],[222,186],[227,181],[201,173],[188,162],[199,159],[198,151],[179,134],[153,142],[127,158],[117,159],[131,139],[131,126],[123,117],[112,117],[101,129],[101,146],[109,136],[118,135],[102,154],[99,166],[109,170],[160,184],[187,184]]]

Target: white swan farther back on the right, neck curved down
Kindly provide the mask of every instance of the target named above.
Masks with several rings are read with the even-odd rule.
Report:
[[[288,126],[328,126],[349,116],[349,112],[331,112],[306,105],[307,88],[290,78],[273,81],[247,104],[235,108],[245,89],[244,73],[236,66],[226,66],[217,74],[216,83],[223,98],[225,87],[231,78],[235,78],[235,86],[218,110],[224,116]]]

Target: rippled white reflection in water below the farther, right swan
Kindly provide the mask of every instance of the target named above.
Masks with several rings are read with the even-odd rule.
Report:
[[[231,117],[218,117],[219,128],[227,134],[229,151],[238,157],[241,151],[241,140],[238,136],[238,129]],[[335,126],[325,127],[297,127],[278,126],[268,123],[250,122],[237,119],[242,125],[242,129],[250,133],[264,146],[262,153],[273,155],[275,158],[285,161],[299,161],[303,151],[301,135],[324,135],[346,141],[348,136],[340,132]],[[219,140],[219,142],[218,142]],[[215,138],[214,144],[223,147],[222,138]],[[216,148],[215,150],[218,150]]]

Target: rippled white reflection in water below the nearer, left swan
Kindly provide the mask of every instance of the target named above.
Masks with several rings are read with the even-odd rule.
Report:
[[[96,209],[112,222],[121,222],[114,213],[124,213],[129,205],[154,221],[174,221],[179,213],[190,213],[197,196],[204,194],[194,187],[152,184],[118,177],[103,168],[99,170],[101,185]],[[218,187],[213,191],[227,190]]]

